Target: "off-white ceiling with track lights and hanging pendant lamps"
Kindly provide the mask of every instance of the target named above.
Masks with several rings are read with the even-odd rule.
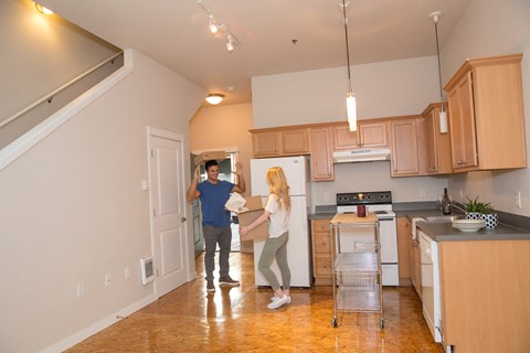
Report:
[[[252,101],[251,77],[346,66],[341,0],[203,0],[241,45],[231,53],[209,31],[197,0],[42,0],[61,17],[121,47],[132,47],[223,104]],[[350,0],[350,64],[436,55],[469,0]],[[295,44],[296,43],[296,44]],[[344,69],[344,75],[347,72]]]

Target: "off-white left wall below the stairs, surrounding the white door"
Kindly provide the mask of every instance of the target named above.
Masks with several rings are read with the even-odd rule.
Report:
[[[141,286],[139,268],[140,257],[152,253],[149,193],[141,190],[146,129],[188,140],[188,121],[206,92],[138,52],[134,62],[124,81],[0,171],[0,268],[7,275],[0,352],[60,347],[152,300],[153,286]],[[189,255],[193,267],[192,246]],[[108,288],[105,274],[112,275]],[[85,287],[81,298],[77,282]]]

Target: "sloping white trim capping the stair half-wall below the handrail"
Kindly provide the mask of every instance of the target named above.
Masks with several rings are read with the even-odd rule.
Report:
[[[0,171],[11,164],[17,158],[25,153],[33,146],[39,143],[46,136],[52,133],[64,122],[68,121],[88,104],[102,96],[135,68],[132,62],[132,51],[124,51],[124,66],[117,69],[107,78],[103,79],[96,86],[92,87],[76,99],[68,103],[66,106],[54,113],[47,119],[35,126],[33,129],[14,140],[12,143],[0,150]]]

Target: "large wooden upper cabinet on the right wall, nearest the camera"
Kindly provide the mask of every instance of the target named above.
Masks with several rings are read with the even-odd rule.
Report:
[[[521,58],[468,60],[445,86],[455,171],[527,167]]]

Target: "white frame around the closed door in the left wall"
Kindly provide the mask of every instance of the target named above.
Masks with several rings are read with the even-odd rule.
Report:
[[[183,193],[183,196],[186,197],[186,190],[188,190],[188,185],[187,185],[187,175],[189,174],[188,170],[187,170],[187,163],[186,163],[186,160],[188,159],[188,162],[189,162],[189,153],[186,152],[186,137],[184,135],[181,135],[181,133],[177,133],[177,132],[172,132],[172,131],[168,131],[168,130],[162,130],[162,129],[159,129],[159,128],[153,128],[153,127],[150,127],[148,126],[147,127],[147,174],[148,174],[148,179],[149,179],[149,225],[150,225],[150,243],[151,243],[151,255],[152,255],[152,259],[153,259],[153,264],[158,264],[160,261],[160,259],[157,257],[158,254],[156,254],[155,252],[155,248],[156,248],[156,244],[155,242],[157,242],[157,238],[156,238],[156,234],[155,234],[155,228],[153,228],[153,214],[152,214],[152,210],[153,210],[153,204],[152,204],[152,191],[151,191],[151,188],[150,185],[152,184],[151,183],[151,173],[150,173],[150,169],[151,169],[151,157],[150,157],[150,153],[151,153],[151,138],[153,137],[158,137],[158,138],[163,138],[163,139],[169,139],[169,140],[174,140],[174,141],[178,141],[179,143],[181,143],[181,160],[182,160],[182,190],[184,191]],[[188,220],[191,220],[192,221],[192,215],[191,215],[191,208],[187,202],[187,200],[183,201],[183,205],[184,205],[184,214],[186,214],[186,217]],[[189,226],[189,222],[184,222],[184,234],[186,234],[186,274],[187,274],[187,281],[189,282],[190,280],[193,280],[197,278],[197,271],[195,271],[195,266],[194,266],[194,249],[193,249],[193,242],[190,242],[190,236],[191,238],[193,238],[193,235],[191,234],[190,235],[190,229],[191,227]],[[190,245],[191,244],[191,245]],[[155,291],[155,296],[157,298],[159,298],[159,290],[158,290],[158,287],[157,287],[157,279],[158,279],[158,268],[155,268],[155,274],[157,276],[155,276],[155,281],[153,281],[153,291]]]

